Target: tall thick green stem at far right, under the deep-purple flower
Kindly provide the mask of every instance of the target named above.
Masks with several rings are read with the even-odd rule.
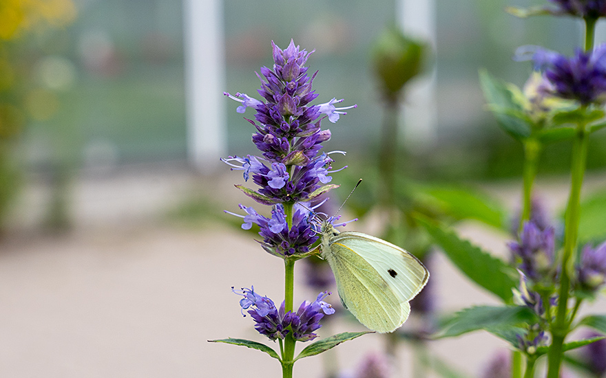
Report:
[[[581,213],[579,203],[581,201],[583,176],[585,175],[588,136],[588,133],[585,131],[585,123],[578,124],[572,146],[570,197],[568,198],[564,223],[564,251],[562,254],[560,292],[556,320],[552,325],[552,346],[548,355],[549,370],[547,370],[547,378],[559,377],[564,339],[570,331],[570,323],[566,317],[570,292],[570,271],[574,265],[574,250],[576,249],[578,236],[578,221]]]

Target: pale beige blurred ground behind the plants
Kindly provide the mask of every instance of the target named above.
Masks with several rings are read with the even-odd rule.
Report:
[[[28,188],[23,213],[0,241],[0,377],[279,377],[278,362],[267,355],[207,340],[264,342],[251,318],[240,314],[240,298],[230,288],[254,285],[278,302],[282,261],[241,230],[163,216],[192,190],[221,192],[217,201],[233,202],[236,208],[241,201],[237,190],[217,191],[233,188],[233,179],[200,178],[173,169],[83,179],[74,185],[75,226],[63,234],[45,234],[33,226],[48,191]],[[604,183],[603,177],[594,181]],[[513,201],[514,188],[493,189]],[[543,185],[552,203],[563,203],[562,188]],[[505,256],[504,235],[474,223],[460,230]],[[431,274],[440,311],[497,304],[443,256]],[[301,277],[299,270],[295,280]],[[295,287],[295,302],[317,295],[304,289],[300,279]],[[336,293],[328,301],[339,302]],[[605,309],[598,302],[585,311]],[[330,328],[320,335],[364,329],[344,319]],[[321,378],[326,361],[337,362],[346,377],[365,355],[382,351],[383,337],[365,335],[337,346],[327,359],[302,359],[295,364],[295,377]],[[505,343],[481,332],[430,344],[432,355],[468,377],[479,377],[499,351],[507,351]],[[395,377],[413,377],[414,359],[411,348],[399,348]]]

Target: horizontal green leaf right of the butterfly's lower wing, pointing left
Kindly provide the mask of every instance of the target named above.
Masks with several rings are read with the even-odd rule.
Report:
[[[503,330],[538,320],[536,313],[522,306],[479,306],[463,309],[448,320],[438,337],[453,337],[483,329],[504,335]],[[510,337],[508,337],[509,339]],[[509,341],[509,340],[508,340]]]

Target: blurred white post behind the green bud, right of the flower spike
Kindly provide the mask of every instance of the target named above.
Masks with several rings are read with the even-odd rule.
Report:
[[[436,25],[434,0],[399,0],[396,3],[398,23],[407,36],[426,41],[435,54]],[[435,142],[437,104],[435,100],[435,69],[424,77],[413,79],[406,88],[404,98],[404,138],[413,150]]]

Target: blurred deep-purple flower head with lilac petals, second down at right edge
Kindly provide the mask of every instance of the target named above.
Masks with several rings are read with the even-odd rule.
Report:
[[[534,60],[536,68],[544,69],[543,91],[583,105],[603,104],[606,100],[606,44],[592,52],[576,49],[571,57],[538,46],[522,46],[516,60]]]

